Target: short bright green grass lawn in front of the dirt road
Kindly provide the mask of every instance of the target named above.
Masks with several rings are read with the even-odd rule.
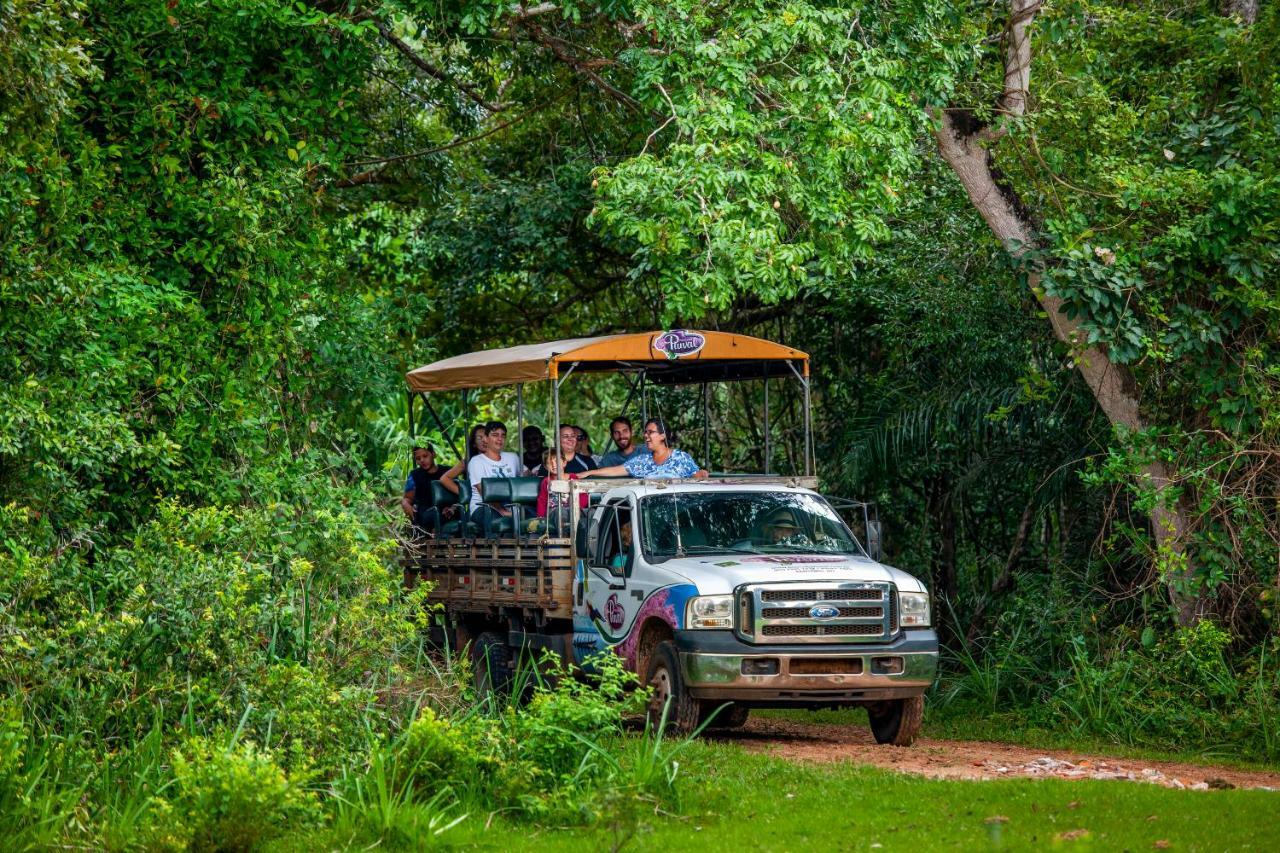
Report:
[[[724,743],[681,754],[682,816],[548,829],[471,815],[440,840],[471,849],[1274,850],[1280,793],[1105,781],[937,781],[797,765]]]

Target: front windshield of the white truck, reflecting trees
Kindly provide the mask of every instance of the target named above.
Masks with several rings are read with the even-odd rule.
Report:
[[[682,492],[640,500],[649,560],[708,553],[865,556],[826,501],[797,492]]]

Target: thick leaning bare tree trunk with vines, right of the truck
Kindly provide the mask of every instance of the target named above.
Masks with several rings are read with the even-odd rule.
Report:
[[[1015,18],[1019,8],[1034,8],[1025,0],[1014,0]],[[1023,38],[1025,42],[1025,23],[1010,28],[1010,41]],[[1010,49],[1012,50],[1012,47]],[[1029,49],[1027,50],[1029,61]],[[1025,83],[1029,73],[1025,70],[1019,77],[1006,74],[1006,86],[1012,79],[1014,86],[1020,87],[1021,96],[1025,97]],[[1005,99],[1005,105],[1021,108],[1021,101]],[[1023,256],[1033,248],[1038,241],[1036,225],[1027,218],[1016,196],[1009,187],[1002,187],[996,181],[995,169],[991,163],[991,152],[984,142],[998,138],[989,128],[963,129],[957,115],[966,115],[955,111],[938,111],[936,138],[942,159],[947,161],[956,173],[961,186],[969,195],[969,200],[986,220],[992,233],[1005,245],[1005,248],[1014,257]],[[1080,375],[1093,392],[1098,406],[1106,412],[1111,423],[1121,429],[1138,430],[1146,424],[1139,411],[1138,386],[1128,368],[1112,364],[1103,347],[1089,345],[1087,333],[1080,328],[1079,320],[1068,318],[1062,310],[1062,300],[1048,296],[1041,288],[1041,277],[1032,272],[1028,283],[1044,313],[1048,314],[1053,334],[1068,345],[1071,357],[1075,360]],[[1158,461],[1143,469],[1146,476],[1157,493],[1165,493],[1172,484],[1170,470]],[[1203,599],[1193,594],[1188,587],[1194,578],[1194,569],[1188,561],[1184,548],[1184,537],[1188,530],[1187,515],[1176,501],[1160,501],[1151,512],[1152,529],[1156,538],[1158,558],[1171,566],[1166,581],[1174,605],[1178,607],[1179,621],[1193,624],[1203,615]]]

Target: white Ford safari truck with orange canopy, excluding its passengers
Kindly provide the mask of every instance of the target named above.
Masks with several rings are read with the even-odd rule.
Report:
[[[485,479],[485,501],[511,510],[488,529],[434,484],[436,507],[457,520],[406,544],[406,580],[433,584],[448,640],[470,649],[481,686],[506,686],[531,651],[550,649],[581,671],[612,649],[653,688],[650,717],[666,713],[680,731],[740,726],[751,708],[863,706],[878,743],[910,744],[937,666],[929,594],[878,560],[878,524],[864,505],[842,505],[855,512],[851,525],[815,491],[806,353],[686,329],[472,352],[407,374],[411,429],[420,401],[447,432],[431,393],[499,386],[516,386],[522,425],[524,384],[532,382],[548,383],[548,414],[559,424],[566,379],[598,373],[621,374],[626,405],[637,402],[641,415],[655,387],[703,384],[705,401],[705,383],[763,382],[765,470],[561,474],[549,489],[567,512],[549,521],[534,516],[536,478]],[[788,475],[772,473],[768,448],[778,380],[799,383],[803,401],[803,470]]]

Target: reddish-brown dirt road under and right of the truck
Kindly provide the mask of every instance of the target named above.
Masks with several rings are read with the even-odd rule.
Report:
[[[739,731],[714,738],[796,761],[852,761],[937,779],[1120,779],[1169,788],[1267,788],[1280,792],[1280,772],[1235,770],[1142,758],[1111,758],[1002,743],[922,738],[909,748],[881,747],[865,726],[805,724],[753,717]]]

